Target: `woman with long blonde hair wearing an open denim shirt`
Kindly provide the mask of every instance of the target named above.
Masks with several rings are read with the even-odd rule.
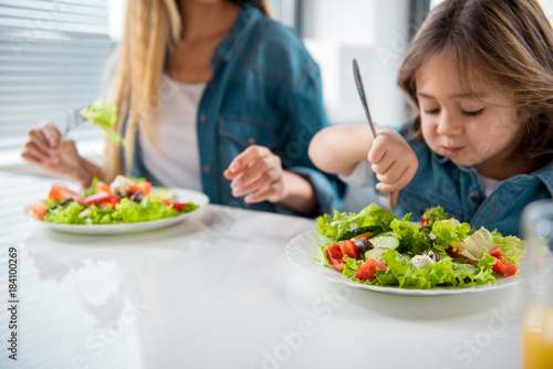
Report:
[[[83,187],[131,173],[213,203],[304,215],[340,207],[344,186],[307,157],[327,126],[319,67],[265,1],[128,1],[118,56],[109,99],[131,147],[106,141],[97,167],[43,124],[24,159]]]

